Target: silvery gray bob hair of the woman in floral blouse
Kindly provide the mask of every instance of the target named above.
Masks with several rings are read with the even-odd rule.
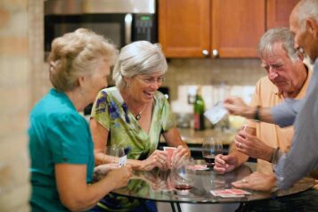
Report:
[[[112,78],[119,90],[124,90],[124,77],[166,73],[167,61],[160,45],[152,45],[148,41],[136,41],[124,46],[115,64]]]

